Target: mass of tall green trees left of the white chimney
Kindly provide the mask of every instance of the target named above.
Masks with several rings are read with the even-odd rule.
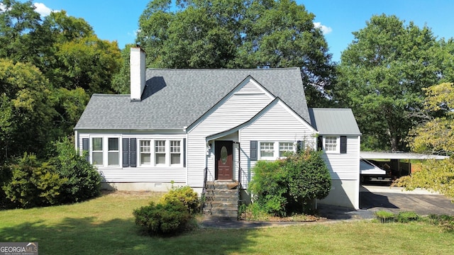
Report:
[[[96,37],[82,18],[31,1],[0,3],[0,163],[72,134],[94,93],[111,93],[121,65],[117,42]]]

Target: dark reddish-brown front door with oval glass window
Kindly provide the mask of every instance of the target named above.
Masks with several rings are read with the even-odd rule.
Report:
[[[216,141],[216,180],[233,179],[233,142]]]

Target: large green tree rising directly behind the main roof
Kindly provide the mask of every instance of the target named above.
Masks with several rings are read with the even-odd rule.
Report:
[[[314,14],[293,0],[150,1],[136,42],[148,67],[300,67],[309,105],[326,104],[333,63]]]

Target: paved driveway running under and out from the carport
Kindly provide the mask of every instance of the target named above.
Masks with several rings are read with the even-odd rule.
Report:
[[[394,213],[413,211],[419,215],[454,215],[454,203],[445,196],[423,190],[409,192],[382,186],[362,186],[360,208],[372,212],[388,210]]]

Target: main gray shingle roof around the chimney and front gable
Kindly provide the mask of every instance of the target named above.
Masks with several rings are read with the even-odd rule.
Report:
[[[147,69],[142,101],[94,94],[75,130],[182,129],[209,111],[248,76],[310,123],[299,68]]]

